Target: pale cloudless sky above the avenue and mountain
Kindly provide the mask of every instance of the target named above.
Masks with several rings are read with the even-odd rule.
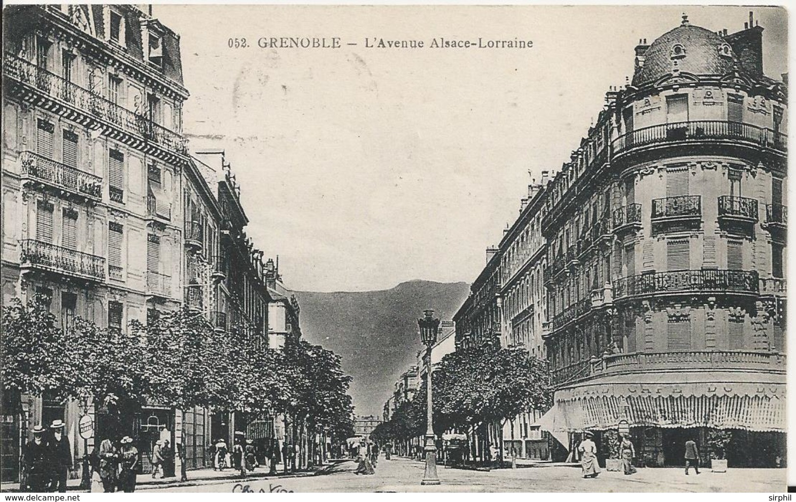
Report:
[[[576,149],[634,47],[681,22],[734,33],[741,6],[176,6],[184,131],[222,148],[247,233],[294,290],[471,282],[543,169]],[[786,72],[786,11],[755,6],[764,71]],[[228,46],[246,38],[248,47]],[[340,37],[340,49],[259,48]],[[533,41],[378,49],[365,39]],[[347,45],[348,43],[357,45]]]

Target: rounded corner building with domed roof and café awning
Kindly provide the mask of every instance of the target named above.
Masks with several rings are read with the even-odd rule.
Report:
[[[751,21],[641,41],[548,185],[540,422],[570,446],[627,427],[644,465],[681,465],[689,438],[707,463],[728,430],[730,466],[786,457],[786,84]]]

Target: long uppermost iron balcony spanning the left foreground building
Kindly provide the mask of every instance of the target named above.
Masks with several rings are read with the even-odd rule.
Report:
[[[110,123],[125,133],[143,138],[144,142],[154,143],[167,152],[177,154],[187,152],[185,138],[180,134],[14,54],[4,54],[3,76],[12,80],[11,84],[16,84],[10,87],[12,91],[44,98],[48,102],[48,107],[61,107],[61,109],[68,107],[85,114],[88,119]]]

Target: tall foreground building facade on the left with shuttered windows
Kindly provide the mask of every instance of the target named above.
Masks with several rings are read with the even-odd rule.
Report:
[[[178,308],[188,97],[179,37],[134,6],[4,14],[3,301],[44,295],[64,329],[80,316],[122,330],[152,309]],[[18,475],[34,424],[63,419],[75,457],[94,442],[76,435],[80,414],[96,419],[97,434],[110,426],[91,403],[46,393],[22,407],[3,420],[3,479]],[[158,407],[127,426],[174,441],[174,413]]]

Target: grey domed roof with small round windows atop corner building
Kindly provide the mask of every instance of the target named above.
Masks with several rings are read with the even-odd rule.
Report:
[[[722,53],[724,52],[724,53]],[[673,71],[694,75],[726,75],[742,65],[732,47],[709,29],[689,25],[685,20],[664,33],[644,53],[644,65],[633,77],[633,85],[649,84]]]

